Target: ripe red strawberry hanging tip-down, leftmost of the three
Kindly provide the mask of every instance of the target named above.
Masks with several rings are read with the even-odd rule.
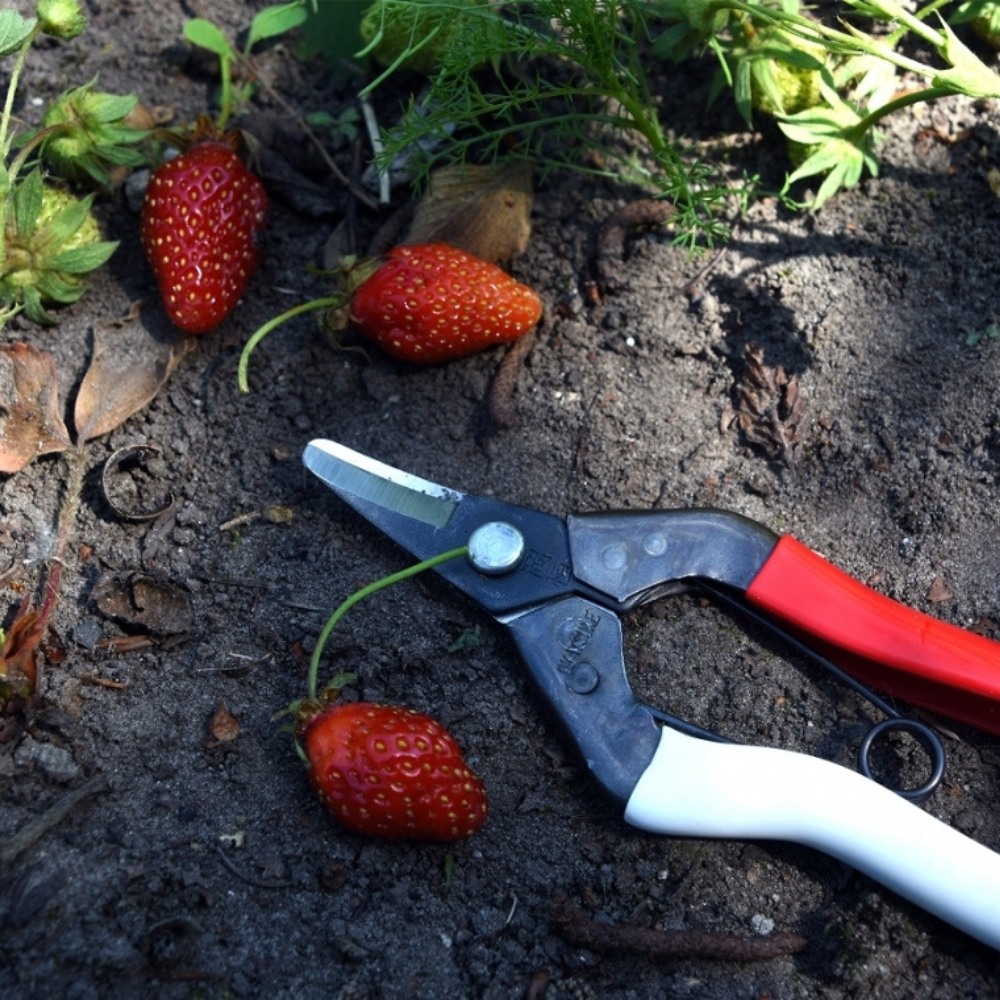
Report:
[[[267,194],[218,139],[158,167],[142,208],[142,245],[171,321],[207,333],[235,308],[260,254]]]

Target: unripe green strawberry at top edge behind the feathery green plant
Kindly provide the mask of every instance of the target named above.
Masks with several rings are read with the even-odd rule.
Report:
[[[452,0],[447,4],[440,0],[375,0],[362,18],[361,39],[364,51],[369,52],[371,46],[370,54],[379,65],[392,66],[409,53],[400,67],[431,76],[467,33],[489,31],[495,16],[483,0]]]

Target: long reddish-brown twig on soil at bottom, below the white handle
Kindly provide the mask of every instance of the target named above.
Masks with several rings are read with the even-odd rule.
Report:
[[[605,954],[644,958],[706,958],[727,962],[757,962],[802,951],[808,941],[798,934],[742,937],[711,931],[654,930],[608,924],[588,917],[568,899],[554,899],[549,917],[560,937],[575,947]]]

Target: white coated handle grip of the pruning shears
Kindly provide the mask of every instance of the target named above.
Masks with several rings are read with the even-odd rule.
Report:
[[[664,728],[625,819],[674,836],[814,847],[1000,950],[1000,854],[839,764]]]

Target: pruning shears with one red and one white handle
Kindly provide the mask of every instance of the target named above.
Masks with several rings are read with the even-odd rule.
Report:
[[[311,442],[303,460],[417,558],[467,546],[435,571],[507,628],[628,823],[813,847],[1000,950],[1000,854],[872,780],[864,766],[857,773],[732,743],[641,704],[626,673],[621,616],[681,585],[699,586],[835,669],[994,734],[1000,644],[883,597],[791,536],[731,512],[563,519],[439,486],[332,441]],[[852,685],[865,692],[859,680]],[[913,720],[887,724],[911,728],[929,748],[936,773],[909,796],[919,800],[943,771],[940,742]]]

